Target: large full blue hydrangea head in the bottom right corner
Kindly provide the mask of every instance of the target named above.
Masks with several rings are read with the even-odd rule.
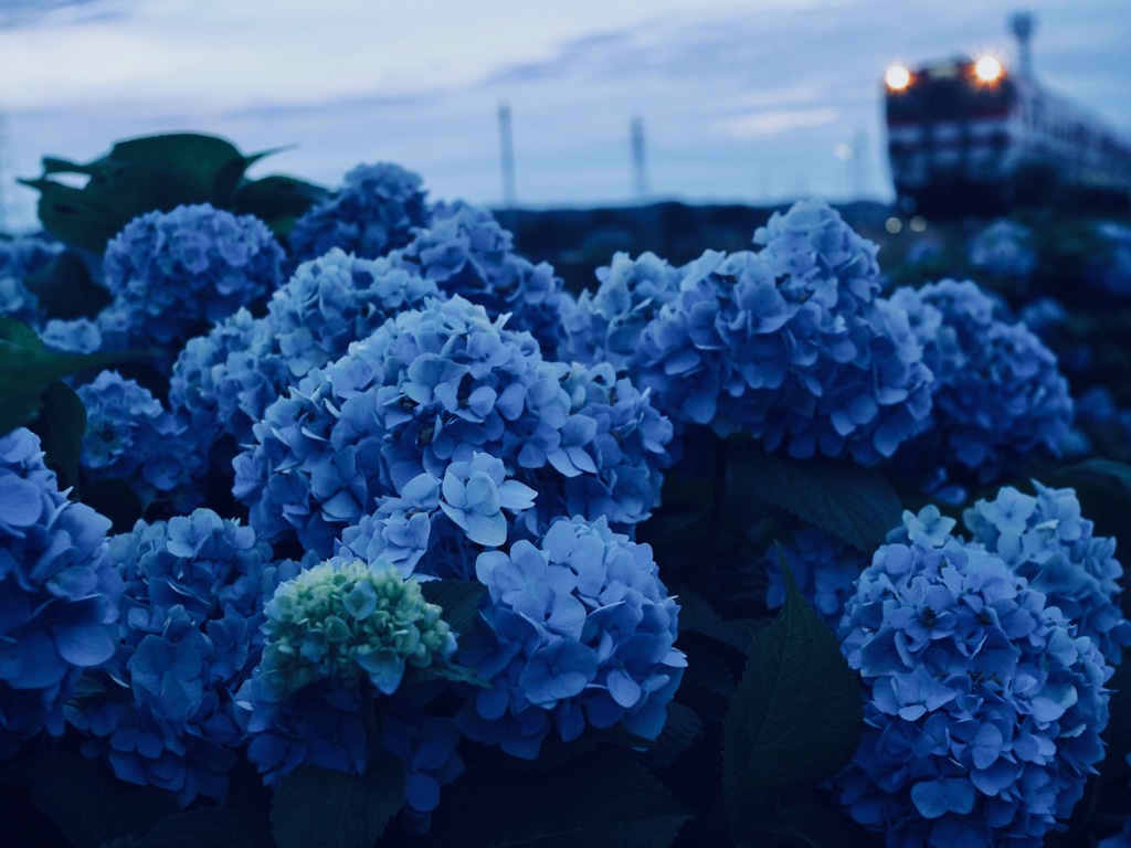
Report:
[[[1038,848],[1103,756],[1112,669],[999,556],[920,525],[846,607],[865,730],[839,801],[892,848]]]

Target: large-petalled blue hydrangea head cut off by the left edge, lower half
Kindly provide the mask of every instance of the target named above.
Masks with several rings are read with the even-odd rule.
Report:
[[[0,435],[0,761],[40,730],[60,735],[83,669],[113,656],[109,529],[59,491],[34,433]]]

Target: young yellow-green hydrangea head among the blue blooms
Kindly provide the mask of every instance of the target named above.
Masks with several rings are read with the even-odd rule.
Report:
[[[266,606],[260,683],[282,698],[318,680],[362,678],[396,692],[405,668],[428,668],[456,637],[420,583],[396,566],[335,557],[279,585]]]

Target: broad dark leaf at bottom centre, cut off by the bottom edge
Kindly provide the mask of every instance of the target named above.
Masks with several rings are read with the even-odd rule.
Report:
[[[664,848],[688,817],[647,770],[616,754],[535,772],[499,759],[444,789],[425,845]]]

